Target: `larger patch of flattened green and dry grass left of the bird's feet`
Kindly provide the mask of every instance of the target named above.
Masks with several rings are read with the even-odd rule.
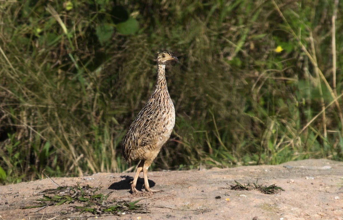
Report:
[[[38,195],[43,195],[42,199],[37,199],[38,205],[26,206],[25,209],[39,208],[37,211],[42,210],[48,206],[59,206],[62,204],[70,204],[77,202],[84,204],[83,206],[74,206],[80,213],[91,212],[94,215],[108,215],[108,214],[125,214],[126,212],[149,212],[145,205],[138,205],[140,200],[135,201],[108,201],[110,193],[107,195],[96,194],[101,187],[93,188],[90,185],[80,186],[59,186],[56,189],[46,189]],[[35,212],[37,212],[35,211]]]

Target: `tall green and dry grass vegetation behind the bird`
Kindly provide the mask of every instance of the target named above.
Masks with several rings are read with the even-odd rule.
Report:
[[[126,129],[167,70],[153,170],[343,160],[338,0],[0,1],[0,182],[130,171]]]

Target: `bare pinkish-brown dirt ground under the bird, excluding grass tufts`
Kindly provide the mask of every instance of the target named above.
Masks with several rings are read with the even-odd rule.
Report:
[[[164,192],[134,197],[129,183],[134,173],[97,173],[85,177],[52,178],[55,183],[102,186],[100,193],[111,199],[137,200],[149,213],[126,213],[95,217],[75,211],[75,204],[50,206],[38,212],[32,206],[37,195],[54,189],[48,178],[28,183],[0,186],[0,220],[28,219],[254,219],[254,220],[343,220],[343,162],[303,160],[281,165],[241,166],[228,169],[148,172],[152,189]],[[142,187],[141,174],[137,188]],[[282,187],[275,195],[257,190],[231,190],[234,180],[241,184]],[[228,200],[228,201],[227,201]],[[87,218],[88,217],[88,218]]]

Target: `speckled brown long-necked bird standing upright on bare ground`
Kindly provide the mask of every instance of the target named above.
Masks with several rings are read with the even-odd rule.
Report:
[[[143,171],[144,187],[147,192],[153,191],[147,181],[147,169],[157,157],[158,152],[167,142],[175,125],[175,108],[171,101],[165,76],[165,65],[168,61],[177,60],[170,52],[164,51],[157,56],[157,82],[154,92],[132,122],[123,139],[123,155],[127,162],[141,160],[136,175],[131,182],[131,191],[135,188],[139,173]]]

